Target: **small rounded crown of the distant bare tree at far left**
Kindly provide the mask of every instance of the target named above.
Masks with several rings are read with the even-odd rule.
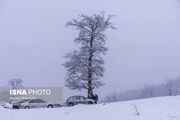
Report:
[[[22,79],[11,79],[8,81],[8,84],[13,88],[21,87],[22,86]]]

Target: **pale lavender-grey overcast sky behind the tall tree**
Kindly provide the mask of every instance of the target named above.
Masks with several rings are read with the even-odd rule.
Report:
[[[107,32],[106,86],[95,92],[103,97],[180,76],[178,0],[0,0],[0,85],[22,78],[24,86],[64,87],[63,55],[77,35],[65,24],[102,10],[116,15],[118,29]],[[65,97],[73,94],[64,89]]]

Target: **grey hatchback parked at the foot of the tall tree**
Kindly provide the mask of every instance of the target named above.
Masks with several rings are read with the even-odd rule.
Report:
[[[66,101],[67,106],[74,106],[77,104],[95,104],[95,100],[77,95],[69,97]]]

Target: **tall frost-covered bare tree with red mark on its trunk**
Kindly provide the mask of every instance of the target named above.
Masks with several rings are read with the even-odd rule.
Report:
[[[104,32],[108,28],[114,29],[111,19],[112,15],[106,16],[104,13],[92,16],[82,14],[67,23],[67,26],[79,31],[74,40],[79,49],[65,57],[63,65],[67,70],[66,86],[71,89],[87,89],[89,98],[92,98],[94,88],[104,85],[98,81],[104,73],[104,61],[100,55],[107,52]]]

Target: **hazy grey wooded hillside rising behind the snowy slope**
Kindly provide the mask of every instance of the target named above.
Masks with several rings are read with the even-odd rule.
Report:
[[[104,101],[115,102],[174,95],[180,95],[180,78],[168,79],[165,83],[162,83],[160,85],[146,84],[142,88],[127,90],[119,94],[116,94],[116,99],[114,99],[114,94],[111,94],[106,96],[104,98]]]

